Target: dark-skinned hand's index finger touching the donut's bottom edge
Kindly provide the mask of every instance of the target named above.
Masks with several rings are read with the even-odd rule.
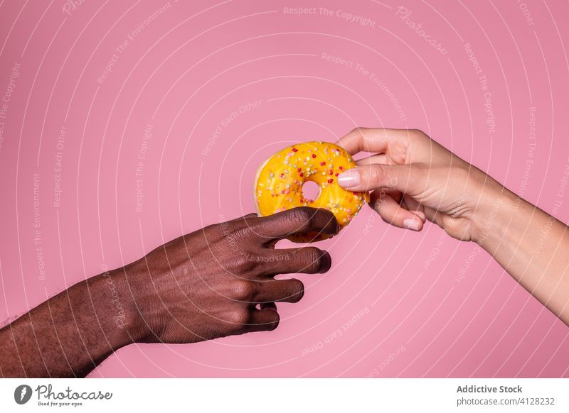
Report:
[[[270,242],[306,233],[336,235],[340,228],[331,211],[299,206],[260,218],[254,230],[265,238],[265,241]]]

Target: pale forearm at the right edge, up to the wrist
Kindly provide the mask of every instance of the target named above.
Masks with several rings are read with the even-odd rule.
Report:
[[[477,241],[526,290],[569,325],[569,231],[507,189],[486,201]]]

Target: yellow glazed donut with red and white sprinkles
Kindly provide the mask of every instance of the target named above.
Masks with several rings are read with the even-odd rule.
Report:
[[[355,166],[351,155],[334,143],[298,143],[280,150],[257,170],[254,188],[257,214],[267,216],[297,206],[325,208],[344,228],[363,203],[369,201],[367,192],[351,192],[338,185],[338,175]],[[316,182],[319,187],[316,199],[305,199],[302,194],[302,186],[308,181]],[[324,238],[328,237],[311,238],[311,241]]]

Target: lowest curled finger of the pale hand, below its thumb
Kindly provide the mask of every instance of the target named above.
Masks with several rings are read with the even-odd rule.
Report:
[[[422,216],[403,208],[388,190],[376,189],[371,192],[370,206],[388,224],[413,231],[422,230],[424,224]]]

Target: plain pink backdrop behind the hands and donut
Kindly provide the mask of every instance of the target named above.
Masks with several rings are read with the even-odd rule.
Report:
[[[387,1],[0,1],[1,97],[20,64],[0,119],[0,319],[102,265],[253,211],[262,160],[354,126],[421,128],[569,221],[560,191],[569,165],[569,11],[549,3],[405,2],[406,21],[422,23],[442,54]],[[299,6],[316,13],[285,13]],[[486,75],[494,128],[465,43]],[[113,53],[112,72],[97,82]],[[335,65],[323,53],[353,63]],[[366,208],[319,246],[333,268],[301,276],[304,299],[280,304],[276,331],[133,345],[92,376],[569,377],[569,329],[474,244],[430,224],[402,231]]]

